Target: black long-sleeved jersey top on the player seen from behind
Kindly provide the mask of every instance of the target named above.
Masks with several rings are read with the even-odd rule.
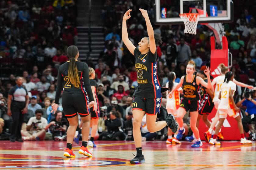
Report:
[[[57,84],[57,90],[55,95],[56,104],[59,104],[59,97],[60,97],[61,91],[63,93],[84,93],[88,102],[94,101],[92,90],[91,90],[91,84],[89,80],[88,65],[86,63],[76,61],[76,66],[77,66],[78,75],[80,78],[79,80],[80,86],[78,88],[73,86],[70,78],[68,77],[69,61],[62,64],[59,67],[58,84]]]

